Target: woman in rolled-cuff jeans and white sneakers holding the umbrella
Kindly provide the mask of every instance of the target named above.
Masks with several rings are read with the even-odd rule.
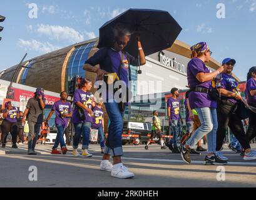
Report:
[[[130,74],[130,64],[138,66],[138,59],[124,51],[130,41],[130,30],[121,24],[118,24],[114,27],[112,36],[113,37],[109,39],[110,41],[108,41],[110,44],[109,46],[101,47],[93,57],[85,62],[84,70],[96,73],[100,80],[103,79],[105,74],[116,73],[118,78],[123,81],[123,84],[126,86],[126,88],[122,89],[126,91],[126,89],[130,89],[128,79]],[[140,64],[144,65],[146,60],[141,47],[140,37],[137,36],[136,39]],[[100,68],[95,68],[97,64],[100,64]],[[106,90],[107,91],[104,92],[106,92],[108,96],[103,96],[103,98],[106,111],[110,118],[110,126],[108,138],[106,140],[105,154],[103,155],[100,169],[101,171],[111,171],[111,176],[115,178],[133,178],[135,174],[131,173],[128,168],[123,166],[121,161],[121,156],[123,156],[121,134],[123,131],[123,116],[125,114],[125,109],[120,108],[120,104],[116,99],[113,97],[111,98],[111,96],[114,96],[113,94],[115,91],[111,89],[111,87],[107,87]],[[109,161],[110,156],[113,157],[113,165]]]

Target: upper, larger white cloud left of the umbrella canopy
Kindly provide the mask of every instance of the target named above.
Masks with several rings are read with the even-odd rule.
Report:
[[[39,24],[36,32],[49,36],[50,39],[65,40],[69,42],[84,41],[84,36],[72,27],[52,26],[48,24]]]

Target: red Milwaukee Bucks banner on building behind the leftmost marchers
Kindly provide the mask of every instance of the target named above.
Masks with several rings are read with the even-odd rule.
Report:
[[[28,99],[33,98],[34,93],[31,91],[25,91],[23,89],[11,88],[9,93],[9,99],[12,101],[28,101]],[[44,98],[46,99],[46,105],[53,105],[56,101],[59,101],[60,97],[49,96],[45,95]]]

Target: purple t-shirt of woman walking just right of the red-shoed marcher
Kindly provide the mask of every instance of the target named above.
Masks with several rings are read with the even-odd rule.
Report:
[[[90,95],[91,94],[88,91],[84,92],[81,89],[77,89],[74,92],[74,104],[76,104],[77,102],[80,102],[80,103],[84,104],[84,106],[87,106],[88,108],[90,108],[92,110],[93,106],[92,106],[92,101],[90,99]],[[83,110],[85,119],[84,120],[80,119],[78,110],[79,110],[78,106],[74,106],[73,123],[78,124],[78,123],[86,123],[86,122],[92,123],[93,122],[93,117],[86,110]]]

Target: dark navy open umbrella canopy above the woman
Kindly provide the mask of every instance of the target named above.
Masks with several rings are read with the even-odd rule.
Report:
[[[125,51],[135,57],[138,57],[136,34],[140,34],[145,56],[148,56],[171,47],[182,31],[182,27],[167,11],[129,9],[100,28],[98,48],[109,46],[116,24],[123,24],[133,33]]]

